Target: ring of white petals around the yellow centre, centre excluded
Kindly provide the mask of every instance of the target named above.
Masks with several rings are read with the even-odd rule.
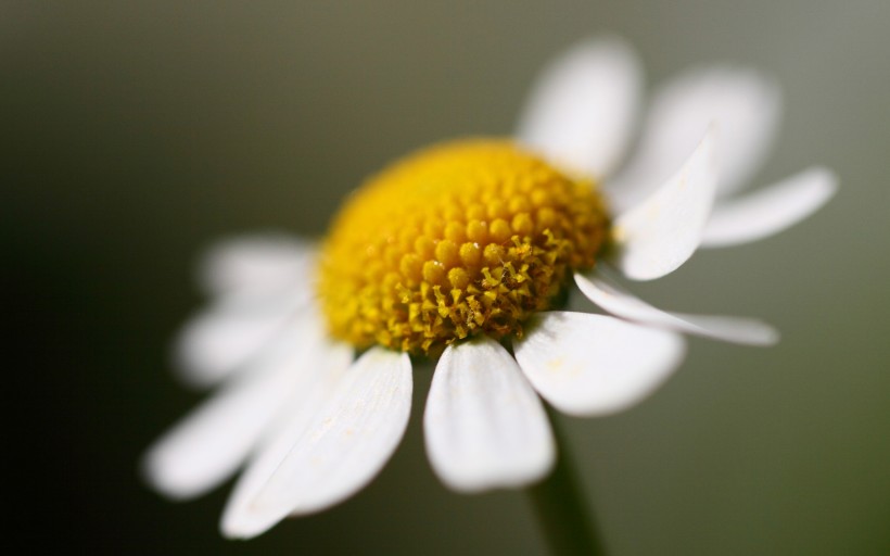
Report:
[[[433,468],[452,489],[521,486],[548,472],[554,439],[538,394],[568,414],[609,414],[677,367],[679,332],[776,341],[759,321],[660,311],[603,267],[650,280],[700,245],[770,236],[824,204],[835,177],[811,168],[736,195],[768,153],[780,101],[772,81],[735,67],[690,71],[660,88],[639,148],[613,175],[634,135],[640,75],[622,41],[594,40],[557,60],[532,96],[518,139],[567,173],[601,179],[618,214],[606,264],[574,275],[614,316],[536,314],[512,340],[514,355],[485,336],[445,349],[423,426]],[[145,468],[156,489],[189,498],[246,463],[224,514],[228,536],[342,502],[383,467],[407,426],[408,355],[376,346],[354,359],[351,346],[326,336],[316,253],[298,239],[240,238],[201,266],[213,302],[182,332],[179,363],[193,384],[221,387],[150,450]]]

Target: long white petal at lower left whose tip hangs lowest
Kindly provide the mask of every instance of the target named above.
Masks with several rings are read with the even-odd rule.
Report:
[[[280,446],[290,444],[277,465],[269,456],[252,464],[246,486],[239,484],[226,509],[224,533],[255,536],[288,515],[320,511],[355,494],[395,452],[410,406],[408,356],[380,348],[366,352],[305,427],[284,427],[284,438],[269,450],[279,455]],[[255,469],[270,475],[263,480]]]

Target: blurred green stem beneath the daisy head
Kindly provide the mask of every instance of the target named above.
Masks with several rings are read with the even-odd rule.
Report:
[[[554,427],[557,462],[549,477],[526,490],[529,498],[552,554],[602,556],[606,551],[581,492],[565,438],[550,407],[547,413]]]

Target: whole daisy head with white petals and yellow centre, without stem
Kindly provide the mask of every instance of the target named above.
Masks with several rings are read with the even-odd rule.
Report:
[[[641,89],[630,47],[586,41],[546,70],[514,138],[390,165],[320,243],[256,236],[212,249],[200,275],[212,301],[182,331],[178,363],[189,382],[219,389],[151,447],[150,482],[190,498],[243,467],[221,521],[232,538],[338,504],[396,450],[411,362],[429,357],[435,473],[460,492],[525,486],[556,459],[542,399],[610,414],[676,369],[684,333],[775,342],[758,320],[656,308],[615,277],[660,278],[699,247],[775,233],[825,203],[835,177],[814,167],[742,193],[780,97],[733,66],[658,89],[615,172]],[[608,315],[560,311],[572,282]]]

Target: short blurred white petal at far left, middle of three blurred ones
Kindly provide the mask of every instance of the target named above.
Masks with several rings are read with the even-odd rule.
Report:
[[[189,320],[175,345],[175,367],[186,382],[207,388],[250,367],[288,327],[313,326],[300,296],[223,299]]]

